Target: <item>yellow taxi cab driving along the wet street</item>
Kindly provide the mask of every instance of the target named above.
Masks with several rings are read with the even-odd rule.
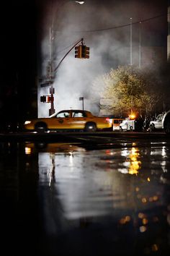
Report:
[[[49,117],[24,122],[24,130],[32,132],[48,132],[61,129],[96,132],[110,127],[112,127],[112,124],[109,122],[109,118],[94,116],[90,111],[79,109],[63,110]]]

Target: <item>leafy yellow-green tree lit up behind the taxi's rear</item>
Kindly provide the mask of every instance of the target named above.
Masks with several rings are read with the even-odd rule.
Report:
[[[146,72],[132,66],[118,67],[100,77],[102,81],[99,82],[99,78],[95,80],[93,85],[94,88],[97,84],[103,86],[100,96],[112,99],[109,108],[113,113],[128,115],[133,111],[149,114],[160,99],[160,95],[153,90],[156,81],[152,78],[151,74],[149,77]]]

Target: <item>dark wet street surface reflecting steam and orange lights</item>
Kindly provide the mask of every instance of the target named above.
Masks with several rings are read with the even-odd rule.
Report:
[[[16,135],[0,152],[1,255],[169,255],[166,135]]]

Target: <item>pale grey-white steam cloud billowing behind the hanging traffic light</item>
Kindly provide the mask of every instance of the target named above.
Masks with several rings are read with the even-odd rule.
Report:
[[[45,77],[49,60],[49,29],[53,22],[53,52],[54,67],[73,46],[84,38],[86,46],[90,47],[89,59],[74,58],[74,49],[66,56],[55,74],[55,112],[68,108],[82,108],[79,97],[84,97],[84,109],[99,114],[99,109],[91,102],[95,92],[91,90],[92,81],[101,74],[109,72],[110,68],[130,64],[130,26],[112,30],[86,32],[106,27],[116,27],[130,23],[130,17],[136,22],[152,17],[159,12],[151,5],[136,1],[86,1],[79,5],[74,1],[56,1],[56,4],[44,8],[43,35],[41,40],[40,75]],[[123,2],[123,4],[122,4]],[[148,1],[147,1],[148,2]],[[157,8],[157,9],[156,9]],[[146,12],[147,10],[147,12]],[[157,22],[158,21],[154,21]],[[154,23],[153,22],[153,23]],[[160,20],[159,20],[160,22]],[[155,26],[152,26],[152,28]],[[150,27],[151,28],[151,27]],[[158,26],[157,26],[158,28]],[[145,26],[143,25],[143,30]],[[154,33],[153,29],[153,33]],[[143,32],[142,32],[143,33]],[[143,34],[141,34],[143,35]],[[143,38],[142,38],[143,40]],[[139,25],[133,25],[133,62],[138,64]],[[148,63],[147,59],[145,60]],[[38,116],[49,116],[50,103],[41,103],[40,95],[49,95],[49,87],[38,88]]]

